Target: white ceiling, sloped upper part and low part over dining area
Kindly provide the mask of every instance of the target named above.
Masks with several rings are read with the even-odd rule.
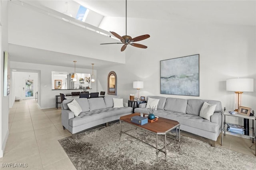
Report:
[[[66,0],[30,0],[29,2],[43,5],[59,12],[66,11]],[[74,0],[68,2],[70,4],[68,11],[73,15],[77,11],[76,3],[79,3],[103,16],[125,17],[125,0]],[[154,20],[256,25],[256,0],[128,0],[127,16],[128,18]],[[9,53],[12,56],[12,61],[50,65],[60,65],[58,61],[64,61],[65,58],[70,57],[67,54],[13,44],[9,45]],[[38,57],[35,59],[34,56]],[[41,58],[43,56],[51,56],[51,59],[42,61]],[[72,57],[81,58],[80,56]],[[52,60],[53,58],[56,60]],[[85,57],[83,57],[83,60],[88,64],[79,65],[77,63],[77,67],[91,68],[90,63],[95,63],[95,69],[97,69],[102,66],[117,64]],[[61,65],[72,67],[73,63],[61,63]]]

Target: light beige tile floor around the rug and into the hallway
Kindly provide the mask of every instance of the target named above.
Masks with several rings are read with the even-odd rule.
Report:
[[[28,164],[26,170],[75,170],[76,168],[62,149],[58,139],[71,134],[63,130],[61,109],[40,110],[34,99],[15,102],[9,111],[10,134],[6,143],[2,163]],[[209,142],[208,139],[182,131],[181,135]],[[220,146],[220,136],[216,145]],[[241,137],[226,135],[223,147],[254,156],[255,146],[250,149],[252,141]]]

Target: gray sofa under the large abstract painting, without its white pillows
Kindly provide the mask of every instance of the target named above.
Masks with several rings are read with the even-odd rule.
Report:
[[[161,96],[148,97],[159,99],[154,115],[178,121],[181,124],[181,130],[211,139],[212,146],[215,146],[215,141],[220,135],[222,127],[222,104],[220,101],[200,99],[186,100]],[[204,102],[216,104],[214,114],[210,117],[210,121],[199,116]],[[138,108],[134,109],[134,112],[148,113],[146,104],[147,103],[140,104]]]

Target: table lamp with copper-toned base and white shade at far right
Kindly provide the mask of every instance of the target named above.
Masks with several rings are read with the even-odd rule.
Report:
[[[253,78],[230,78],[226,80],[226,90],[236,94],[235,110],[238,111],[242,102],[243,92],[253,92]]]

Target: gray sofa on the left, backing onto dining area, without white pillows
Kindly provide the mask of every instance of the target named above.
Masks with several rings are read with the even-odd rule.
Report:
[[[127,103],[124,103],[124,107],[113,108],[113,98],[119,98],[118,96],[105,96],[104,98],[76,98],[66,99],[62,102],[61,121],[64,129],[67,129],[72,133],[73,139],[76,137],[76,133],[85,129],[101,125],[110,121],[118,120],[120,116],[128,115],[133,112],[132,107],[128,107]],[[68,103],[76,100],[82,112],[75,116]]]

